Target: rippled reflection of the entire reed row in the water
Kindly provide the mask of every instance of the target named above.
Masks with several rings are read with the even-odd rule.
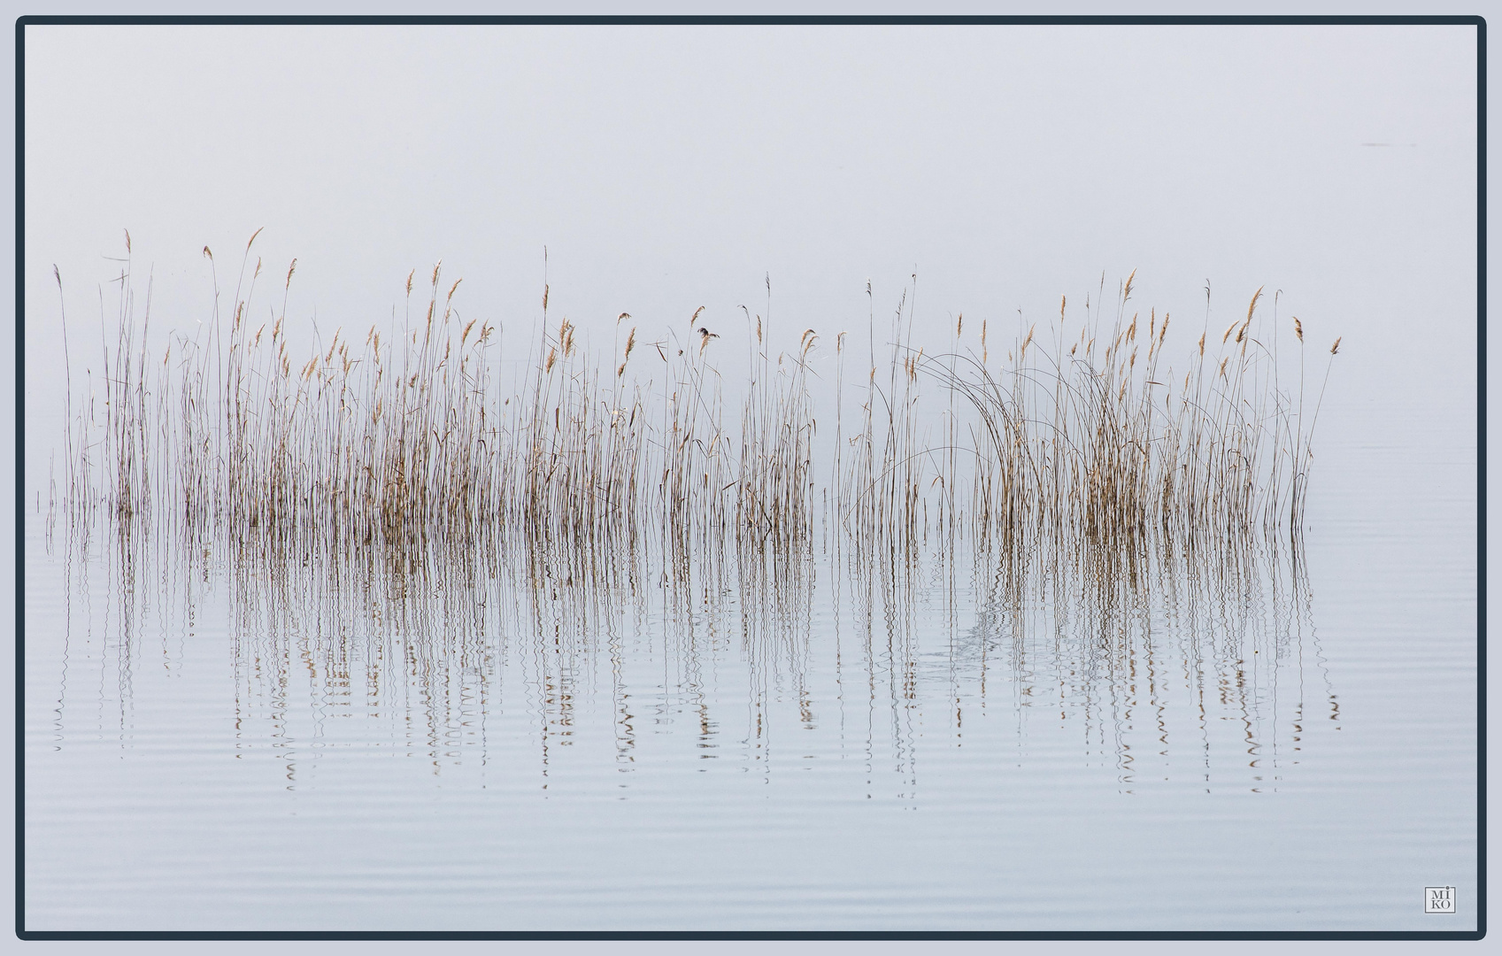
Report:
[[[682,555],[650,541],[598,561],[526,538],[317,558],[131,528],[87,555],[68,544],[69,594],[93,616],[69,624],[60,693],[77,699],[92,661],[102,714],[128,734],[152,648],[165,658],[227,625],[234,746],[285,761],[288,786],[344,741],[434,773],[479,764],[493,785],[611,761],[774,782],[837,759],[864,773],[847,786],[916,806],[924,762],[1015,735],[1123,789],[1256,789],[1298,764],[1319,708],[1338,726],[1323,672],[1305,673],[1323,658],[1287,547],[991,547],[903,565],[749,547],[691,558],[685,579],[668,571]],[[80,714],[63,703],[66,741]]]

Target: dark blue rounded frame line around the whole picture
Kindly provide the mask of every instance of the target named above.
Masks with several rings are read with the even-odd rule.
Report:
[[[26,27],[29,26],[1473,26],[1476,27],[1476,929],[1458,932],[54,932],[26,929]],[[15,21],[15,935],[20,939],[1481,939],[1487,933],[1487,21],[1481,17],[21,17]]]

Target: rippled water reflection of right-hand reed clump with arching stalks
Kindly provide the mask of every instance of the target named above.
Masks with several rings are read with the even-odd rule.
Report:
[[[975,582],[979,612],[958,645],[958,679],[984,700],[988,670],[1005,666],[1018,712],[1078,723],[1086,752],[1110,761],[1128,789],[1158,771],[1169,779],[1170,747],[1202,752],[1206,788],[1242,776],[1274,788],[1298,762],[1304,664],[1320,660],[1298,541],[1051,562],[996,552],[976,562]],[[1290,676],[1295,687],[1281,690]],[[1338,723],[1328,679],[1323,702]]]

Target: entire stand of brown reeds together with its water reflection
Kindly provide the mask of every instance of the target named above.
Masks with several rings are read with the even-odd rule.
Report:
[[[401,722],[394,732],[440,759],[475,728],[484,737],[511,667],[527,675],[544,768],[595,720],[580,706],[604,679],[625,770],[644,722],[683,708],[698,756],[713,758],[736,722],[713,712],[706,664],[734,652],[748,681],[736,740],[769,768],[774,705],[792,700],[808,729],[828,706],[813,624],[823,586],[859,648],[835,654],[840,706],[856,697],[846,669],[859,660],[868,750],[892,743],[904,794],[915,722],[943,699],[958,728],[967,699],[994,696],[997,657],[1018,708],[1056,694],[1123,780],[1140,777],[1145,711],[1163,719],[1167,753],[1170,687],[1196,702],[1206,749],[1211,714],[1229,709],[1254,761],[1280,759],[1259,714],[1275,696],[1263,678],[1308,621],[1290,595],[1319,398],[1305,409],[1302,325],[1299,377],[1286,380],[1260,293],[1218,346],[1206,307],[1187,367],[1173,367],[1169,316],[1126,313],[1131,278],[1107,308],[1087,301],[1077,335],[1060,302],[1057,320],[1011,343],[990,322],[966,338],[961,317],[939,355],[913,343],[915,287],[882,334],[873,310],[853,409],[855,359],[834,337],[829,449],[816,416],[828,382],[811,371],[820,337],[769,344],[771,286],[768,307],[745,311],[736,388],[703,310],[653,343],[622,313],[625,341],[617,331],[601,370],[550,316],[547,289],[526,370],[508,380],[500,325],[463,319],[439,268],[416,311],[409,277],[400,329],[372,328],[363,344],[339,329],[293,358],[293,269],[279,311],[255,325],[249,250],[233,313],[159,356],[122,274],[114,341],[101,329],[105,374],[89,373],[75,415],[69,383],[60,505],[69,547],[110,541],[122,597],[143,564],[224,574],[237,685],[272,726],[293,720],[285,700],[305,679],[318,722]],[[928,672],[936,631],[942,681]],[[662,667],[646,694],[643,657]]]

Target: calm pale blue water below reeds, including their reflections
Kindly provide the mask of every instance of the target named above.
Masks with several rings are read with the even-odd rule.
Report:
[[[44,495],[27,927],[1473,929],[1469,412],[1331,421],[1298,562],[1136,583],[278,568]]]

